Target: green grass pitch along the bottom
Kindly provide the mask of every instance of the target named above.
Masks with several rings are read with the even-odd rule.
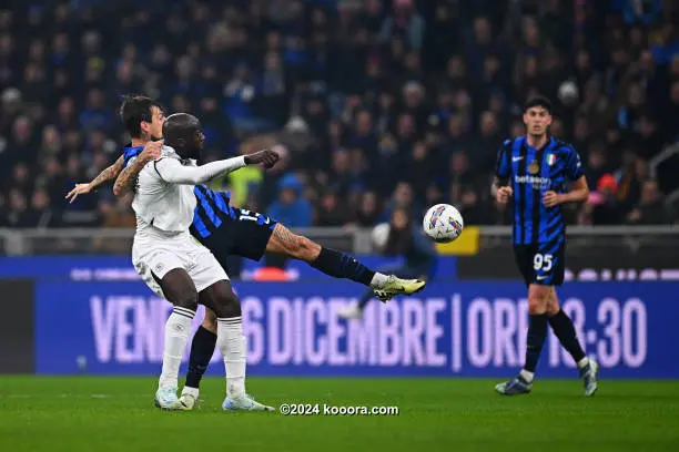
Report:
[[[679,381],[538,380],[501,398],[486,379],[251,378],[263,402],[398,407],[398,415],[222,412],[205,379],[194,412],[153,408],[153,378],[0,377],[2,451],[678,451]],[[321,409],[322,410],[322,409]],[[236,449],[237,448],[237,449]]]

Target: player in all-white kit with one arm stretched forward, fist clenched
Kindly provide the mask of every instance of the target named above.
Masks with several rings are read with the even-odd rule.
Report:
[[[161,113],[162,114],[162,113]],[[196,166],[204,135],[196,117],[178,113],[162,126],[165,145],[160,157],[139,173],[132,208],[136,233],[132,263],[144,282],[174,306],[165,323],[163,367],[155,404],[183,409],[176,397],[178,373],[191,335],[197,304],[216,314],[216,345],[226,368],[226,410],[273,411],[245,392],[246,343],[241,322],[241,304],[229,277],[212,253],[192,238],[196,198],[193,186],[236,171],[247,164],[271,167],[278,160],[265,150],[247,156]],[[153,136],[153,135],[152,135]]]

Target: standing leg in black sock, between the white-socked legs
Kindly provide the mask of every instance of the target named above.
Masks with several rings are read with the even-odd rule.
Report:
[[[199,390],[201,380],[210,360],[214,353],[216,346],[216,316],[205,308],[205,318],[195,331],[191,342],[191,355],[189,356],[189,372],[186,373],[186,383],[182,390],[180,402],[183,410],[193,410],[199,400]]]

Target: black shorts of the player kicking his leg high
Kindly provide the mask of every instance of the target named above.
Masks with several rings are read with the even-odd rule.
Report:
[[[225,218],[209,237],[196,237],[224,267],[230,255],[260,260],[266,251],[276,222],[256,212],[233,207],[235,215]]]

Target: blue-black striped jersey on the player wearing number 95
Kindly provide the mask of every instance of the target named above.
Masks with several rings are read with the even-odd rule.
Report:
[[[545,192],[566,192],[566,182],[582,176],[582,165],[576,150],[550,137],[536,150],[525,136],[507,140],[499,148],[495,174],[509,181],[514,189],[515,245],[545,244],[564,240],[566,223],[561,206],[545,207]]]

